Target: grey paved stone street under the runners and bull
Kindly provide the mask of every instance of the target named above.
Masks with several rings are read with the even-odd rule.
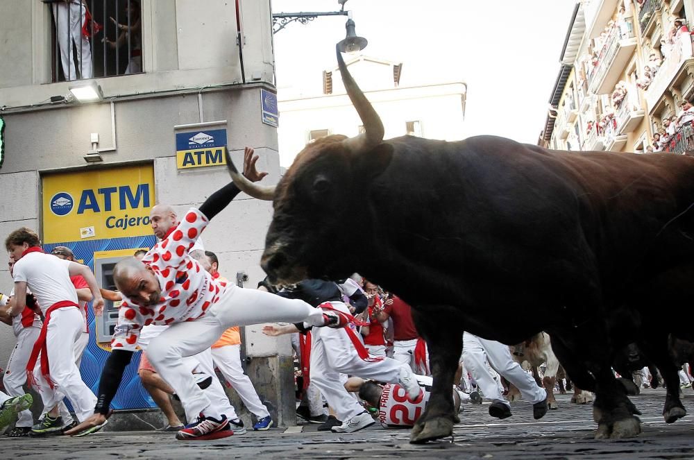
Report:
[[[684,405],[694,414],[694,392],[687,389]],[[372,426],[353,434],[316,432],[316,425],[269,432],[249,432],[219,441],[182,442],[173,434],[104,432],[84,438],[5,438],[5,459],[692,459],[694,417],[666,425],[661,416],[664,391],[645,390],[632,398],[641,409],[643,433],[622,441],[594,441],[590,406],[569,403],[559,395],[560,407],[542,420],[532,420],[530,405],[513,405],[514,416],[496,420],[487,404],[464,406],[462,423],[453,439],[411,445],[409,429]]]

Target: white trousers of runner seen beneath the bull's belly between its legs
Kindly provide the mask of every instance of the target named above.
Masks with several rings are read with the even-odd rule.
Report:
[[[471,371],[477,385],[484,393],[485,398],[491,400],[500,400],[509,404],[504,399],[497,382],[491,377],[491,374],[486,370],[486,360],[489,361],[491,367],[500,375],[512,384],[516,385],[521,391],[521,396],[524,400],[534,404],[540,402],[547,397],[544,389],[537,386],[535,380],[521,368],[511,358],[509,347],[503,343],[482,339],[476,335],[464,332],[463,334],[463,360],[465,366]]]

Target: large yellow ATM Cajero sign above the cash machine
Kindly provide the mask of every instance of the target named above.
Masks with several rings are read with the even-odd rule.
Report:
[[[151,235],[154,168],[51,174],[42,178],[44,243]]]

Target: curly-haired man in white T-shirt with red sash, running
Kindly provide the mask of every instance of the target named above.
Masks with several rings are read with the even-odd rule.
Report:
[[[37,386],[44,407],[57,410],[67,397],[82,421],[92,413],[96,397],[75,364],[74,346],[82,334],[83,317],[70,277],[82,275],[87,281],[95,310],[103,308],[103,298],[89,267],[45,254],[39,245],[38,235],[26,227],[5,240],[5,248],[15,259],[16,301],[9,314],[15,316],[24,310],[26,289],[31,289],[45,319],[26,365],[27,377]],[[53,420],[62,424],[58,416]]]

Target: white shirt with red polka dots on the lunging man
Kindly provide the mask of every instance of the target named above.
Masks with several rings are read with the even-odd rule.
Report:
[[[226,288],[190,256],[196,239],[207,225],[207,217],[192,207],[176,229],[144,255],[142,262],[151,266],[162,289],[160,301],[155,305],[139,305],[124,298],[112,348],[135,351],[143,326],[194,321],[205,316],[212,304],[219,301]]]

